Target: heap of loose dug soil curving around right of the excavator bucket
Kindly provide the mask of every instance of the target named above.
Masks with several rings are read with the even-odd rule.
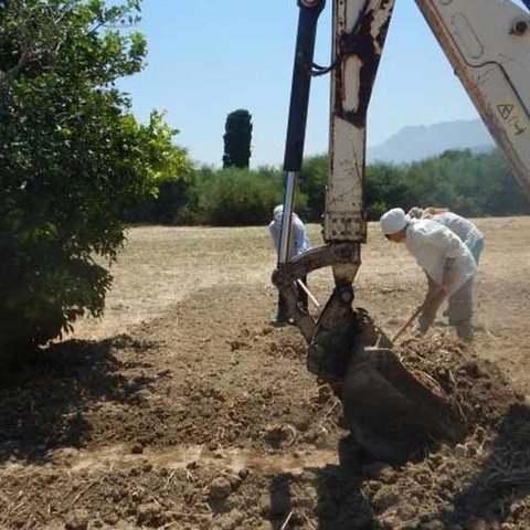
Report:
[[[353,494],[329,528],[350,528],[351,506],[364,518],[368,509],[378,524],[391,529],[530,528],[523,500],[530,491],[530,411],[521,396],[496,365],[456,340],[413,339],[399,353],[418,379],[448,395],[468,435],[403,467],[371,463],[356,469],[359,462],[353,462],[352,476],[356,470],[358,476],[346,485],[338,479]]]

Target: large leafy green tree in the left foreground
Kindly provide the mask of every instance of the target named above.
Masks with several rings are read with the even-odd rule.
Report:
[[[0,353],[102,315],[124,211],[191,170],[163,116],[138,124],[115,86],[144,65],[138,10],[0,0]]]

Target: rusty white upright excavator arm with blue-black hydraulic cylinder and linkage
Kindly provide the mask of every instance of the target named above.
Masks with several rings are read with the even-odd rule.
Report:
[[[317,20],[325,3],[326,0],[298,0],[298,35],[284,159],[284,212],[293,212],[311,77],[328,70],[331,73],[331,116],[330,168],[322,231],[326,244],[288,261],[292,215],[285,214],[278,267],[273,274],[273,282],[282,290],[290,317],[310,344],[309,369],[320,377],[333,379],[343,372],[341,359],[348,358],[351,351],[352,337],[358,335],[358,320],[365,321],[365,316],[357,315],[351,307],[354,297],[352,284],[367,234],[362,204],[365,123],[394,2],[336,0],[332,62],[329,68],[321,68],[314,64],[312,57]],[[295,282],[311,271],[328,266],[333,272],[335,289],[315,322],[297,304]],[[339,365],[340,369],[336,368]]]

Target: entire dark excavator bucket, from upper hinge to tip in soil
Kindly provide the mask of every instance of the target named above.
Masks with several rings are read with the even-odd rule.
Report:
[[[368,314],[338,293],[317,324],[308,369],[332,383],[352,437],[377,459],[404,462],[434,441],[454,443],[464,433],[444,395],[410,373]]]

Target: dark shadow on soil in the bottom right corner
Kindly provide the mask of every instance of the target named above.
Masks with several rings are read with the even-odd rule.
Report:
[[[476,518],[495,526],[508,517],[517,518],[515,504],[529,495],[530,409],[518,404],[502,418],[480,473],[455,497],[454,510],[438,517],[446,523],[463,523]],[[528,524],[528,520],[517,522]]]

